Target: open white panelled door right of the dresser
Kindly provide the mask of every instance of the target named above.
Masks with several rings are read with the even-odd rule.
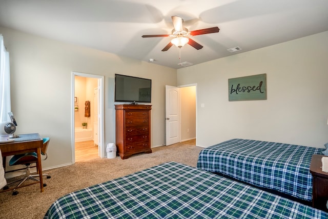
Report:
[[[181,141],[180,133],[180,89],[165,86],[165,132],[166,145]]]

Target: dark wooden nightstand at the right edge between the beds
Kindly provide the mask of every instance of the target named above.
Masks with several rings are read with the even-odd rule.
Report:
[[[312,156],[310,172],[313,176],[312,207],[328,212],[328,172],[322,171],[321,158],[324,155]]]

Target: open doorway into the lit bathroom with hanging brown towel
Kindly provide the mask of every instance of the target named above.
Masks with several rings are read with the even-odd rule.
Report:
[[[104,157],[103,76],[73,72],[72,160]]]

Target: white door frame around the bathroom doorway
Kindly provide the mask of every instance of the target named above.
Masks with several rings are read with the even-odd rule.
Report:
[[[99,136],[99,142],[98,142],[98,154],[99,157],[104,158],[104,79],[105,77],[103,75],[96,75],[96,74],[87,74],[87,73],[81,73],[81,72],[74,72],[72,71],[72,90],[71,90],[71,145],[72,145],[72,163],[75,163],[75,132],[74,132],[74,121],[75,121],[75,113],[74,113],[74,96],[75,96],[75,75],[81,76],[81,77],[91,77],[98,79],[98,89],[99,89],[99,130],[98,130],[98,136]]]

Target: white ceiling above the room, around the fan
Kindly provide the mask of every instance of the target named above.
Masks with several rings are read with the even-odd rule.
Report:
[[[178,69],[327,31],[327,11],[327,0],[0,0],[0,26]],[[172,37],[141,35],[171,34],[172,15],[220,31],[191,36],[200,50],[162,52]]]

